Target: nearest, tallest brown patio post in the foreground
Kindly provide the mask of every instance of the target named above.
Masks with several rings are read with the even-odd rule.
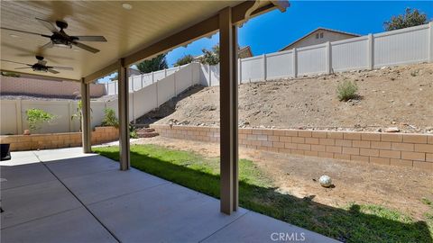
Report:
[[[232,8],[219,13],[221,211],[238,208],[237,26]]]

